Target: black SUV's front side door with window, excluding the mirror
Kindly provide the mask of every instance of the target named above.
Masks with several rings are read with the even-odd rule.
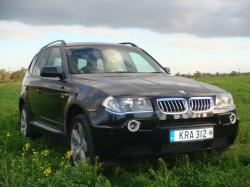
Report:
[[[63,69],[62,56],[59,47],[53,47],[46,66],[56,66]],[[49,126],[63,130],[64,108],[69,96],[68,83],[59,78],[41,78],[42,98],[40,119]]]

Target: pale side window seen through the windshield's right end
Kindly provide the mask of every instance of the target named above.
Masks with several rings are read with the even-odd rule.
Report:
[[[129,53],[137,72],[155,72],[153,66],[138,53]]]

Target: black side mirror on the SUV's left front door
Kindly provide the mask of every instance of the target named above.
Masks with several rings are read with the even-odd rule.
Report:
[[[59,77],[62,79],[63,72],[61,67],[56,66],[44,66],[40,70],[41,77]]]

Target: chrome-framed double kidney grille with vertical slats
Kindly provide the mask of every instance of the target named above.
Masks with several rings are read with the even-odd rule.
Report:
[[[188,111],[207,112],[213,105],[211,97],[191,97],[188,102],[184,98],[160,98],[157,105],[161,112],[165,114],[183,114]]]

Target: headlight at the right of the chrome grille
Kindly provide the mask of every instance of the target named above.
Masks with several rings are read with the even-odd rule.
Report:
[[[222,109],[231,110],[234,108],[235,108],[235,105],[234,105],[233,97],[231,94],[225,93],[225,94],[216,95],[215,106],[214,106],[215,110],[222,110]]]

